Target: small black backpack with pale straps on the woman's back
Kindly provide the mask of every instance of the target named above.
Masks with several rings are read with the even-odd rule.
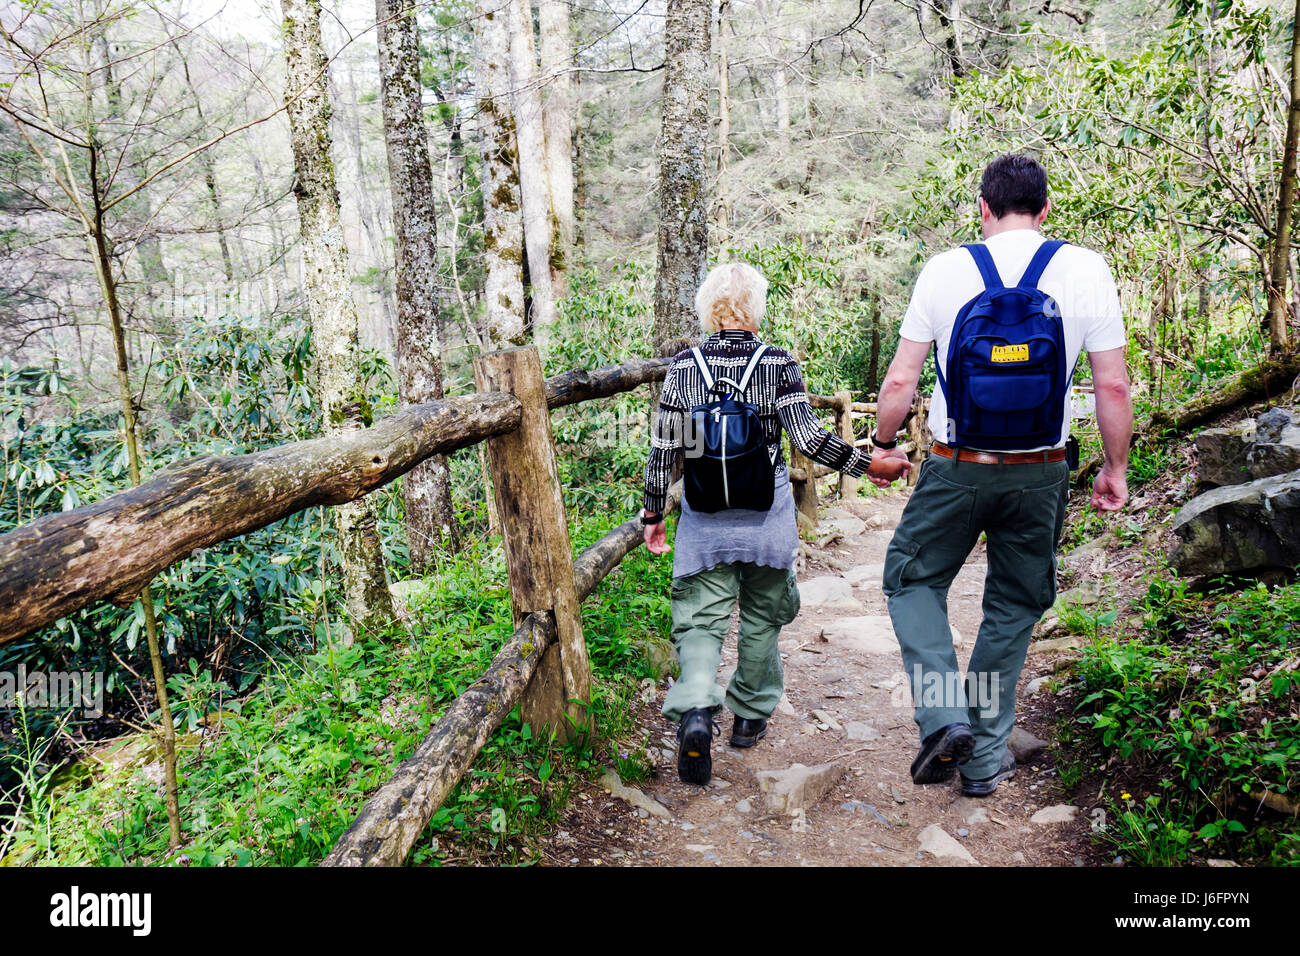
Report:
[[[766,345],[754,350],[738,382],[731,378],[715,382],[703,352],[690,350],[705,378],[706,394],[723,395],[690,410],[690,429],[684,442],[684,484],[686,502],[694,511],[767,511],[772,507],[776,475],[767,453],[763,420],[758,406],[741,401],[764,351]]]

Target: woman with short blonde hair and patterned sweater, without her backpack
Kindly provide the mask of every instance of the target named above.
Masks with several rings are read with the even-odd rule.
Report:
[[[767,280],[744,263],[719,265],[696,294],[696,312],[705,332],[699,346],[711,376],[740,381],[755,350],[763,317]],[[714,401],[689,350],[668,369],[659,397],[659,416],[646,464],[646,546],[654,554],[667,544],[663,511],[668,484],[690,408]],[[794,497],[781,453],[781,429],[809,458],[853,476],[866,475],[880,486],[906,473],[907,462],[878,458],[823,429],[812,415],[800,365],[767,346],[751,371],[741,401],[758,407],[763,437],[776,471],[776,493],[768,511],[728,509],[696,511],[682,501],[672,563],[672,635],[681,658],[681,679],[672,685],[663,715],[679,721],[677,773],[686,783],[707,783],[712,774],[712,715],[723,704],[736,715],[732,747],[753,747],[767,734],[767,719],[784,692],[776,639],[800,610],[794,581],[798,525]],[[725,691],[716,683],[731,613],[740,601],[738,662]],[[720,731],[718,731],[720,734]]]

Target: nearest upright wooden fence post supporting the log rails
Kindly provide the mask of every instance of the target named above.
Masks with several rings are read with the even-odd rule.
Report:
[[[524,721],[534,731],[554,731],[567,740],[588,726],[592,665],[536,346],[476,356],[474,384],[480,392],[510,392],[524,406],[519,431],[489,440],[488,458],[515,624],[533,611],[554,611],[559,639],[547,648],[524,695]]]

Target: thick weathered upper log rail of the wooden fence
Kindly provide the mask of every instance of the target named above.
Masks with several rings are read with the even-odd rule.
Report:
[[[671,359],[567,372],[546,382],[551,408],[663,378]],[[200,548],[316,505],[341,505],[437,454],[519,428],[504,393],[417,405],[372,428],[247,455],[194,458],[144,484],[0,535],[0,644],[96,601],[129,604]]]

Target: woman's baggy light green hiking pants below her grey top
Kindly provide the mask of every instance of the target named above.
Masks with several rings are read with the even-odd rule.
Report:
[[[718,684],[723,641],[740,601],[736,672]],[[750,562],[715,564],[672,581],[672,639],[681,678],[668,691],[663,715],[680,721],[694,708],[716,713],[725,702],[737,717],[772,715],[784,691],[776,639],[800,613],[794,571]]]

